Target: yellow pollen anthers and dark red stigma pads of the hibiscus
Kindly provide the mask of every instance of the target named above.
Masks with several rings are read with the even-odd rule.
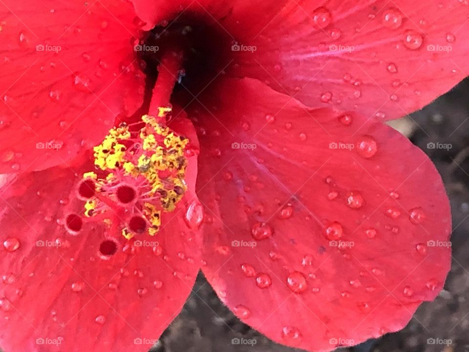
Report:
[[[77,191],[85,200],[85,221],[102,221],[126,239],[158,232],[162,212],[173,211],[187,190],[189,140],[161,124],[170,112],[159,108],[156,118],[145,115],[141,122],[121,124],[94,147],[96,170],[83,175]],[[82,219],[70,214],[66,227],[77,233]],[[111,255],[112,249],[101,252]]]

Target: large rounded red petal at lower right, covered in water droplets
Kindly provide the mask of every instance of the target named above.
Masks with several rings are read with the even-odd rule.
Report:
[[[213,91],[200,98],[211,113],[191,114],[203,270],[220,299],[311,351],[402,329],[450,265],[448,198],[428,157],[382,123],[308,109],[255,80]]]

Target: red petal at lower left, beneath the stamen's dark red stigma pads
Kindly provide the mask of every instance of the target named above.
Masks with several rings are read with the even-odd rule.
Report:
[[[186,224],[184,201],[163,215],[155,237],[139,239],[144,246],[115,234],[109,260],[98,255],[103,224],[87,223],[77,236],[64,231],[58,222],[74,210],[76,175],[86,170],[90,161],[75,159],[2,187],[5,351],[51,351],[58,341],[61,351],[148,351],[192,289],[201,242]]]

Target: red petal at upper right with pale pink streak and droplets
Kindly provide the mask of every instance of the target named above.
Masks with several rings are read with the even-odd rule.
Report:
[[[468,12],[464,1],[292,1],[256,37],[236,38],[256,51],[235,52],[232,73],[311,107],[399,118],[468,75]]]

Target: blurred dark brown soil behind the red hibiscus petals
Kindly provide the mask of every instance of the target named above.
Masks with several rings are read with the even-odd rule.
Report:
[[[404,330],[343,352],[469,352],[469,79],[392,126],[420,147],[436,164],[451,201],[452,268],[435,302],[424,303]],[[431,149],[428,143],[450,144]],[[218,300],[203,275],[181,314],[151,352],[295,352],[241,323]],[[256,345],[233,345],[233,338]],[[451,339],[449,346],[427,344]]]

